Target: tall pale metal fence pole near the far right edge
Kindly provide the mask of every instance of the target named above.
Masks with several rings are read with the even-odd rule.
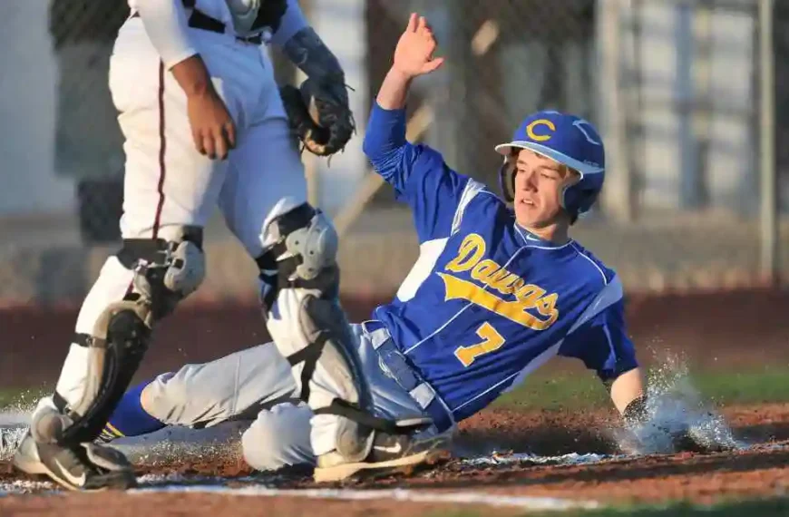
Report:
[[[761,273],[771,287],[778,284],[778,203],[775,180],[774,0],[759,2],[759,154],[762,177]]]

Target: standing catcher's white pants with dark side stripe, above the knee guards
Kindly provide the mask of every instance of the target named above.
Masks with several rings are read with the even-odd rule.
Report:
[[[130,6],[134,13],[136,1]],[[295,2],[291,9],[297,9]],[[118,34],[110,67],[126,152],[122,236],[173,239],[170,229],[204,226],[219,204],[229,229],[257,257],[260,227],[274,203],[306,195],[300,157],[259,36],[239,38],[225,0],[197,0],[186,15],[193,48],[181,52],[198,52],[206,63],[237,124],[237,147],[227,161],[195,149],[186,95],[168,72],[168,58],[177,62],[183,55],[161,56],[141,17],[132,14]],[[207,18],[223,28],[211,30]]]

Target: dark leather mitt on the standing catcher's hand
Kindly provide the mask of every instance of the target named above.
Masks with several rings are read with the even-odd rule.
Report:
[[[304,148],[318,156],[342,151],[356,130],[343,83],[320,83],[308,78],[300,88],[279,89],[290,127]]]

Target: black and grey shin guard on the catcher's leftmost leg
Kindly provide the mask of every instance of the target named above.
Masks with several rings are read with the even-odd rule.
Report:
[[[60,418],[37,425],[40,441],[77,444],[93,441],[120,401],[148,349],[155,323],[172,312],[205,277],[202,230],[184,227],[180,238],[127,239],[117,254],[134,271],[132,288],[106,307],[91,335],[74,342],[89,348],[83,394],[73,405],[55,392]]]

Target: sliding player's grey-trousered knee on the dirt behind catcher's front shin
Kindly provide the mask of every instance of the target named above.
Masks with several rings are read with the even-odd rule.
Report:
[[[258,471],[312,467],[315,454],[309,442],[312,411],[306,404],[283,403],[263,410],[241,435],[244,460]]]

